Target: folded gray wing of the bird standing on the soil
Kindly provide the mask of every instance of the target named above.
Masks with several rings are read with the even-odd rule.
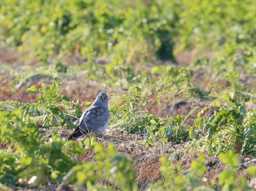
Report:
[[[103,106],[93,106],[83,113],[83,118],[81,117],[77,127],[85,131],[87,131],[87,129],[89,131],[98,129],[108,122],[109,115],[108,108]]]

